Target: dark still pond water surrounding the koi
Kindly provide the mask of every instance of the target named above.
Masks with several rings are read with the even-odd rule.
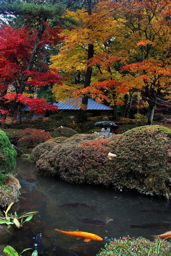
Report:
[[[76,240],[75,237],[60,234],[55,229],[79,229],[101,236],[103,241],[89,242],[92,248],[89,247],[85,255],[96,255],[98,247],[102,247],[112,237],[143,236],[152,240],[151,235],[171,230],[171,205],[165,199],[86,184],[68,184],[50,177],[43,178],[36,174],[34,163],[21,158],[17,159],[14,173],[22,189],[21,198],[12,208],[12,212],[16,210],[21,214],[39,211],[32,224],[15,229],[12,237],[6,241],[18,252],[24,248],[35,248],[34,234],[40,233],[38,249],[44,255],[67,255],[64,252],[58,253],[53,245],[71,251],[69,248],[75,244],[86,244],[83,239]],[[101,225],[97,220],[107,224]],[[97,248],[94,243],[98,243]],[[84,255],[84,247],[80,246],[80,252],[75,253]]]

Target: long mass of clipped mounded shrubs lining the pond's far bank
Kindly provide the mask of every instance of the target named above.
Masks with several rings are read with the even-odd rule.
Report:
[[[67,182],[168,197],[170,135],[170,129],[160,126],[137,127],[105,138],[77,134],[41,155],[36,164],[39,173],[56,174]],[[109,152],[116,157],[110,160]]]

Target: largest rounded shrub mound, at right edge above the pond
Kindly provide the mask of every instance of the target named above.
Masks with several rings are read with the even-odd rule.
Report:
[[[154,125],[123,133],[115,140],[111,152],[117,155],[108,165],[111,183],[119,189],[167,195],[170,135],[170,129]]]

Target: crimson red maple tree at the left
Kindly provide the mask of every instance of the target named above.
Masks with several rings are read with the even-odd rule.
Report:
[[[25,86],[61,84],[63,78],[56,69],[49,69],[45,63],[48,47],[56,45],[63,37],[58,34],[62,28],[51,28],[44,22],[44,31],[27,28],[15,29],[2,25],[0,28],[0,112],[8,114],[17,104],[27,104],[31,111],[43,114],[45,110],[57,111],[57,107],[45,99],[28,98],[22,95]],[[35,48],[37,47],[37,48]],[[10,92],[13,88],[15,92]],[[10,104],[9,104],[10,100]],[[8,103],[8,104],[5,104]]]

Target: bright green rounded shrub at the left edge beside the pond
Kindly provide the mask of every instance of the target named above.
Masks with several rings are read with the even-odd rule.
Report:
[[[0,130],[0,180],[3,183],[3,175],[8,174],[16,168],[16,150],[10,144],[5,132]]]

